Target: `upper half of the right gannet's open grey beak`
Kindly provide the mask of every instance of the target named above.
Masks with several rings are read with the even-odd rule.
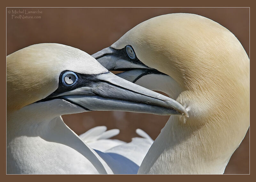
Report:
[[[110,71],[127,71],[134,68],[152,69],[143,64],[139,59],[130,59],[125,52],[125,48],[114,49],[107,47],[94,53],[92,57]]]

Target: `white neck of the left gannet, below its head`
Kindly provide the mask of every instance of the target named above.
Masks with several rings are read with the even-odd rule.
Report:
[[[29,114],[26,107],[7,116],[8,173],[112,173],[60,116]]]

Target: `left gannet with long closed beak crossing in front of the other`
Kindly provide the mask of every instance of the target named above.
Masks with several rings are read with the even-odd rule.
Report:
[[[124,110],[185,114],[176,101],[109,72],[82,50],[35,44],[7,56],[7,173],[106,174],[107,163],[63,114]],[[109,166],[109,165],[112,166]],[[115,166],[114,166],[115,167]]]

